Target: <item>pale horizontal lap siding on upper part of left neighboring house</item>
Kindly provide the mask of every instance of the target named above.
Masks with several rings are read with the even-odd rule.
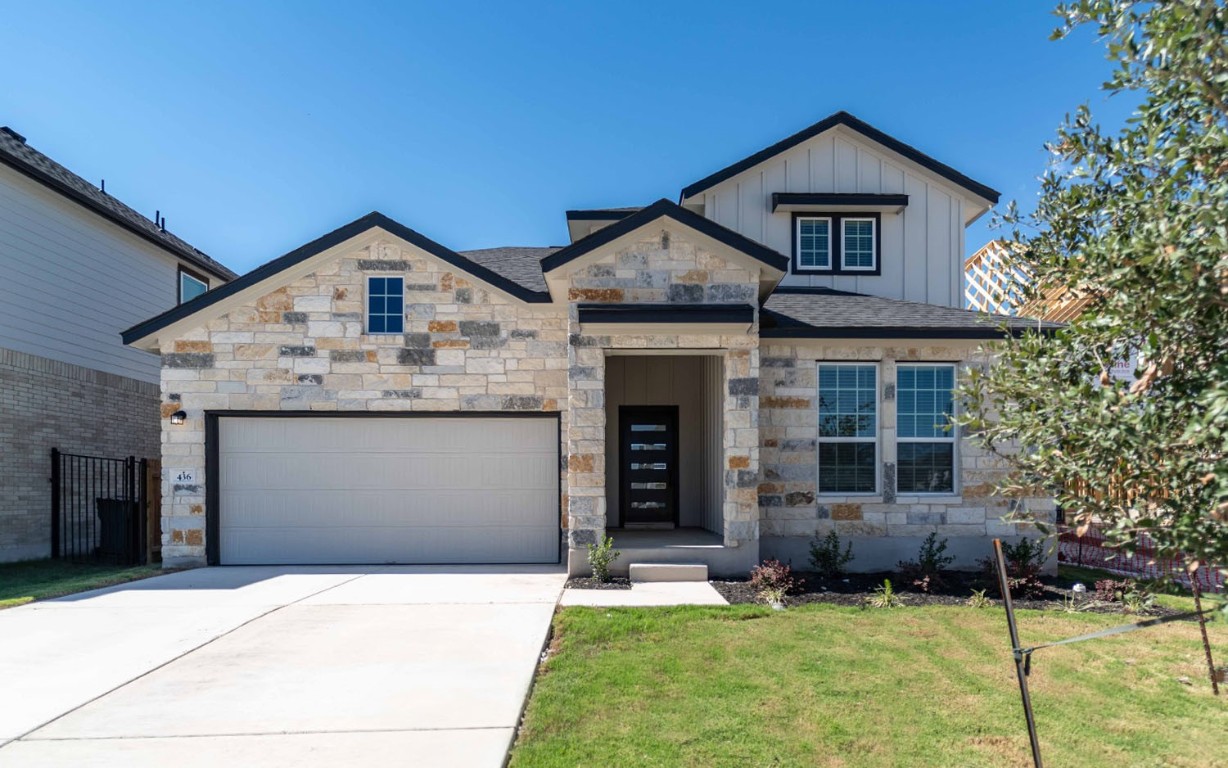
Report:
[[[124,347],[119,333],[176,306],[178,264],[0,166],[0,347],[157,383],[158,358]]]

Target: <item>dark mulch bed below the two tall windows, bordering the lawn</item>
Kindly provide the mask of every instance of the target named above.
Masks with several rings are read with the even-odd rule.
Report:
[[[982,590],[987,586],[985,576],[981,574],[963,571],[943,571],[943,586],[930,594],[911,589],[900,574],[894,573],[849,574],[839,579],[824,579],[814,573],[793,571],[793,576],[801,585],[785,597],[786,606],[807,603],[865,606],[866,601],[874,595],[874,589],[883,585],[884,579],[892,580],[892,586],[900,595],[905,606],[965,606],[973,590]],[[1063,609],[1063,601],[1074,595],[1070,590],[1072,582],[1052,576],[1045,576],[1043,581],[1045,582],[1044,597],[1016,600],[1014,607],[1036,611]],[[729,603],[763,603],[763,600],[745,579],[712,581],[711,584]],[[1086,586],[1092,587],[1090,584]],[[987,591],[987,595],[993,594],[993,589]],[[1093,595],[1084,592],[1078,598],[1081,603],[1090,603]],[[1001,606],[1002,601],[993,600],[992,603]],[[1088,613],[1121,613],[1121,606],[1117,603],[1086,605],[1082,609]],[[1178,611],[1170,608],[1153,606],[1148,616],[1173,616]]]

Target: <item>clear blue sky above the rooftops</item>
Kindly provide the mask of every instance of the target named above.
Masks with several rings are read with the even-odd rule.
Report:
[[[10,2],[0,124],[237,272],[379,210],[566,242],[837,109],[1028,205],[1103,44],[1025,2]],[[992,236],[989,217],[970,249]]]

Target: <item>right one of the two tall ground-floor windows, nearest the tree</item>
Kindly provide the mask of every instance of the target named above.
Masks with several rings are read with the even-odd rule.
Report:
[[[900,365],[896,380],[896,490],[955,492],[955,366]]]

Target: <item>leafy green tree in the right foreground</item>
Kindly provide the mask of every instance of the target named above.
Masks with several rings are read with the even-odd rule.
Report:
[[[1036,210],[1012,204],[1025,301],[1086,302],[1056,333],[1027,333],[973,371],[965,425],[1086,526],[1131,551],[1228,565],[1228,12],[1222,0],[1082,0],[1054,38],[1094,26],[1104,87],[1141,101],[1106,133],[1089,109],[1049,144]],[[1127,96],[1130,97],[1130,96]],[[1117,360],[1138,360],[1115,381]]]

